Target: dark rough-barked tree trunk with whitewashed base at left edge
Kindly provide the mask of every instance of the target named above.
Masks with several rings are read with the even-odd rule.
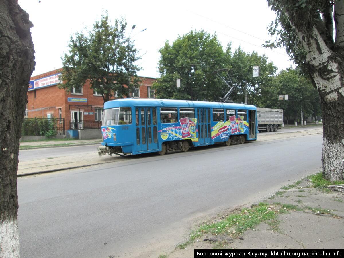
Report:
[[[0,1],[0,257],[19,257],[19,138],[34,68],[29,15],[17,0]]]

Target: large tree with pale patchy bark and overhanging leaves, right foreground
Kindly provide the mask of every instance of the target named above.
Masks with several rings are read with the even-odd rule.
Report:
[[[267,46],[283,46],[318,89],[323,116],[323,173],[344,179],[344,1],[267,0],[277,14]],[[334,25],[334,27],[333,27]]]

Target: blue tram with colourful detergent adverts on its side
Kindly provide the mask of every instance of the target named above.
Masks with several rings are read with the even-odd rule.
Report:
[[[104,104],[98,154],[160,155],[257,139],[256,107],[206,101],[117,99]]]

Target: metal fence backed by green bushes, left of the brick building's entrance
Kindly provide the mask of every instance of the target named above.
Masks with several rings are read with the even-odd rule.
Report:
[[[64,135],[64,128],[64,118],[24,118],[22,136]]]

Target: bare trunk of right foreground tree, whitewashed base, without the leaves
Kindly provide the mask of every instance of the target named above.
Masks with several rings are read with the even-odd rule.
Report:
[[[344,180],[344,58],[326,46],[316,29],[307,47],[323,114],[323,174],[330,181]]]

